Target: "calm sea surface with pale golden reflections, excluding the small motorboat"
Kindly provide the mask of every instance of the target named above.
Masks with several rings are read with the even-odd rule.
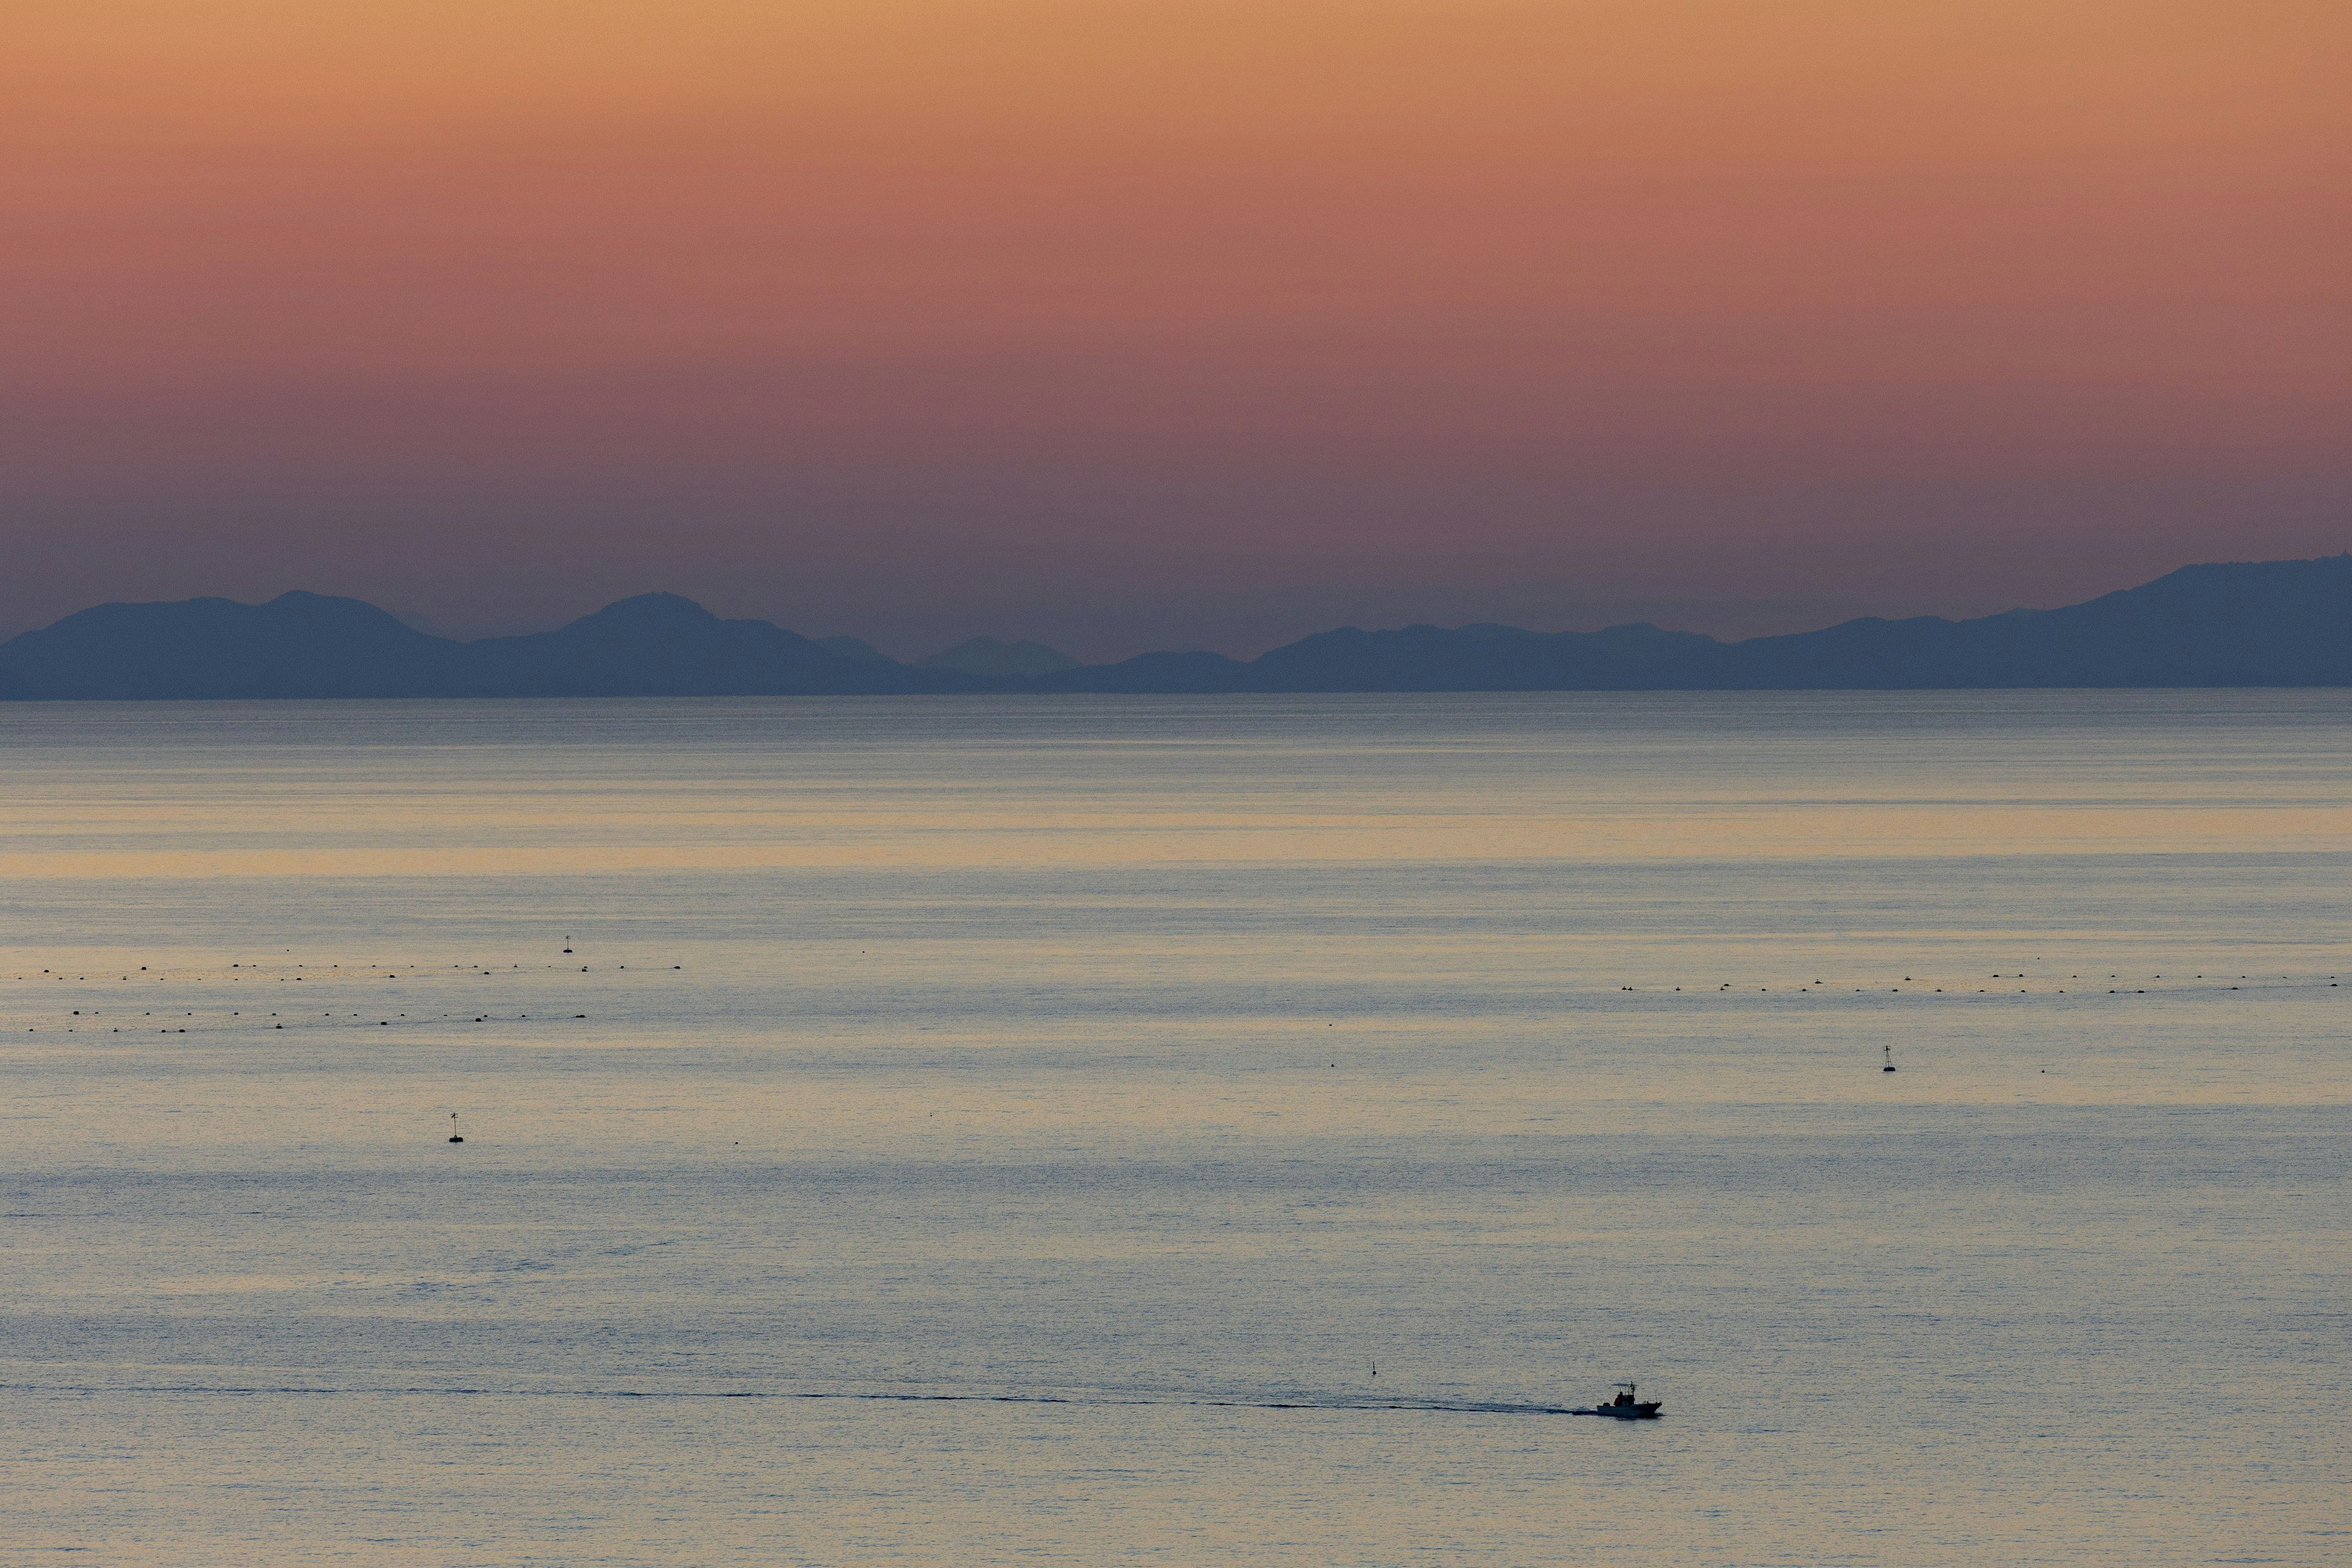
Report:
[[[5,705],[0,1561],[2347,1563],[2347,917],[2345,691]]]

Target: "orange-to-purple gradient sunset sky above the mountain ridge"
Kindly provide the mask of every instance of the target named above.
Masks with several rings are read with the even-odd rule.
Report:
[[[0,632],[1743,635],[2352,548],[2343,0],[12,0]]]

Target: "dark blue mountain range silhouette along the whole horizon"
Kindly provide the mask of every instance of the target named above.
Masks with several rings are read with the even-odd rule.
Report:
[[[287,592],[85,609],[0,644],[0,698],[2352,686],[2352,555],[2185,567],[2067,609],[1729,644],[1656,625],[1341,628],[1251,661],[1143,654],[1028,672],[1007,665],[1054,651],[978,642],[906,665],[659,592],[553,632],[452,642],[360,599]]]

